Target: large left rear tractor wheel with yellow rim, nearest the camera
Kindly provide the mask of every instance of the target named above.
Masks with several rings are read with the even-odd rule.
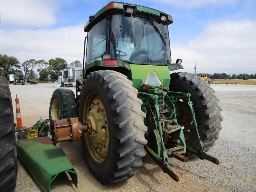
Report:
[[[91,72],[84,80],[80,122],[90,120],[91,133],[82,136],[86,162],[102,184],[131,178],[146,155],[147,127],[142,100],[132,81],[119,72]]]

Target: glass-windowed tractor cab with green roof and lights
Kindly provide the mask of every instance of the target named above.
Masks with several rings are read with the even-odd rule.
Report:
[[[135,4],[110,2],[84,27],[87,32],[86,65],[129,64],[169,66],[168,25],[172,16]],[[123,61],[123,62],[122,62]],[[179,61],[181,63],[181,60]],[[176,69],[183,68],[180,63]],[[172,65],[173,67],[174,65]]]

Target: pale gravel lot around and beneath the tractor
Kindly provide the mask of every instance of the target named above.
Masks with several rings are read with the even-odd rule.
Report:
[[[182,163],[171,159],[173,170],[180,176],[180,182],[174,182],[145,156],[144,165],[133,178],[102,186],[86,165],[81,143],[66,142],[60,146],[78,173],[78,188],[61,176],[52,184],[52,191],[256,191],[256,85],[211,86],[220,98],[224,121],[220,138],[209,153],[220,160],[220,165],[206,160]],[[54,89],[54,84],[10,85],[13,102],[15,94],[20,98],[24,125],[32,126],[40,116],[48,118]],[[20,160],[15,191],[40,191]]]

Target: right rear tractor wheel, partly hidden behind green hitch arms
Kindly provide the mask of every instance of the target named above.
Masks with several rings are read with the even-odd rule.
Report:
[[[190,99],[193,103],[200,138],[204,143],[205,150],[210,150],[216,139],[219,138],[223,120],[220,114],[222,108],[215,96],[215,91],[199,76],[186,72],[171,74],[170,91],[191,94]],[[178,123],[184,126],[186,144],[196,147],[198,138],[186,100],[178,100],[176,107]],[[189,153],[188,156],[194,157]]]

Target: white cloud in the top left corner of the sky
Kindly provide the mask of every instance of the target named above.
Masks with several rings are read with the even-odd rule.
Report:
[[[56,4],[48,0],[0,0],[1,23],[50,26],[56,22]]]

